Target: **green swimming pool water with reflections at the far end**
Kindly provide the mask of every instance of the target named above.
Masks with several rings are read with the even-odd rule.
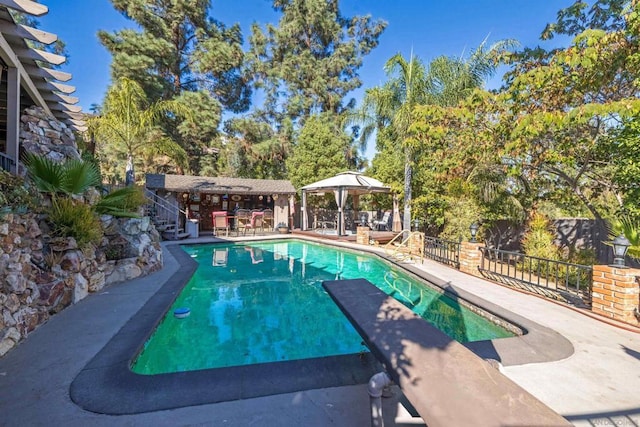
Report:
[[[136,373],[367,351],[324,280],[365,278],[460,342],[514,335],[364,253],[291,240],[183,249],[199,266],[135,360]],[[188,317],[173,315],[181,307]]]

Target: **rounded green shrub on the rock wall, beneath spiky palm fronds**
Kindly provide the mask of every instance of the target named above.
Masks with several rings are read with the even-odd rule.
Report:
[[[100,220],[91,207],[72,199],[54,198],[49,222],[54,236],[73,237],[81,248],[102,238]]]

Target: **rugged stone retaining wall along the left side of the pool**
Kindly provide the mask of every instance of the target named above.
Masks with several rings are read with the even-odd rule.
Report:
[[[85,249],[73,238],[50,238],[42,219],[0,218],[0,357],[89,293],[162,268],[160,236],[148,217],[102,216],[102,242]]]

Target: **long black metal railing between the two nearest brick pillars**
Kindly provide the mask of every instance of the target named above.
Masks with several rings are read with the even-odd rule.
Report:
[[[510,286],[578,306],[591,305],[592,267],[481,247],[478,270]]]

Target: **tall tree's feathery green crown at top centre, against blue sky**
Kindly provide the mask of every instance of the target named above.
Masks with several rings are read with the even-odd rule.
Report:
[[[362,85],[358,69],[386,23],[344,17],[337,0],[274,0],[273,7],[282,13],[278,26],[264,32],[254,24],[248,54],[266,109],[293,121],[342,112],[345,96]]]

